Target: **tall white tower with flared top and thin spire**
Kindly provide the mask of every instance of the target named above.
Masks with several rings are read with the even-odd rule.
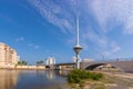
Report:
[[[79,37],[80,37],[80,31],[79,31],[79,17],[76,18],[76,46],[73,48],[74,52],[75,52],[75,57],[76,57],[76,61],[75,61],[75,65],[76,65],[76,69],[80,69],[80,51],[83,49],[81,46],[80,46],[80,40],[79,40]]]

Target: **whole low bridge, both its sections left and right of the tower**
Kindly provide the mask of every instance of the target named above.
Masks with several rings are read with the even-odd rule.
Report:
[[[133,59],[80,62],[80,68],[85,70],[94,70],[96,68],[104,67],[104,66],[112,66],[112,68],[116,68],[123,72],[133,72]],[[54,69],[74,69],[74,68],[75,68],[74,62],[58,63],[54,66]]]

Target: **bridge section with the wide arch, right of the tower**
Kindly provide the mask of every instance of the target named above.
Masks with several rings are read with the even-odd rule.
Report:
[[[96,67],[111,65],[112,67],[119,68],[124,72],[133,72],[133,60],[115,60],[115,61],[92,61],[92,62],[81,62],[81,69],[93,70]]]

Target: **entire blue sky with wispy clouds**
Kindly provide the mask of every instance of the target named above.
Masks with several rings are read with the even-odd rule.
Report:
[[[33,65],[71,62],[80,26],[81,59],[133,58],[133,0],[0,0],[0,42]]]

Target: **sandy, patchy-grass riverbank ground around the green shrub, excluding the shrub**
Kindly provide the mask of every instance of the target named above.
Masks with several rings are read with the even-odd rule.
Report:
[[[71,89],[133,89],[133,73],[103,72],[103,79],[71,83]]]

